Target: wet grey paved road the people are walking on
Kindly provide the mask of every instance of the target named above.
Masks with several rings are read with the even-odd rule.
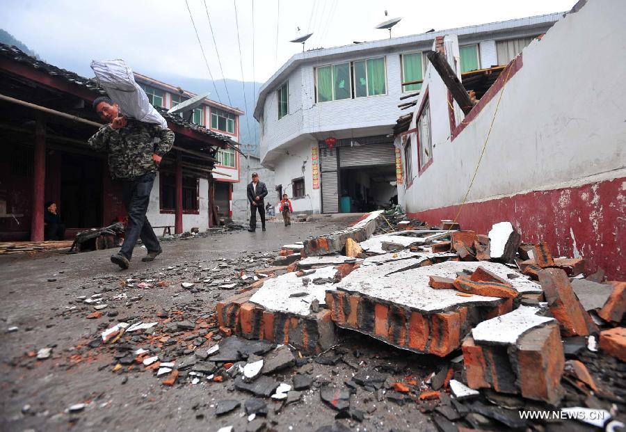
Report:
[[[354,217],[353,217],[354,218]],[[352,218],[352,219],[353,219]],[[79,255],[38,255],[38,257],[1,257],[0,259],[0,430],[24,431],[216,431],[234,425],[245,431],[248,421],[243,410],[223,417],[214,415],[212,403],[219,399],[237,399],[242,403],[249,395],[234,391],[232,382],[188,381],[164,387],[161,379],[150,372],[114,374],[115,359],[102,351],[97,355],[84,344],[93,340],[102,328],[124,319],[154,319],[157,310],[181,310],[184,317],[195,319],[214,312],[217,301],[232,291],[211,289],[193,293],[181,289],[180,280],[189,280],[200,267],[212,267],[225,259],[257,259],[273,253],[284,243],[303,240],[307,236],[344,227],[350,219],[320,218],[310,223],[294,223],[284,228],[268,223],[268,231],[256,233],[230,232],[211,234],[204,238],[163,242],[164,253],[152,263],[142,263],[137,255],[128,271],[120,271],[109,262],[111,250]],[[235,264],[232,264],[233,266]],[[168,266],[169,287],[154,289],[122,289],[126,278],[159,278]],[[172,274],[179,279],[173,280]],[[49,282],[49,279],[56,279]],[[111,287],[113,280],[113,288]],[[76,300],[77,296],[102,293],[107,298],[126,293],[129,298],[141,294],[140,301],[113,301],[104,312],[114,310],[116,317],[106,314],[101,319],[85,319],[90,306]],[[76,306],[78,310],[68,309]],[[75,313],[74,313],[75,312]],[[4,333],[18,326],[15,333]],[[360,367],[374,367],[384,362],[406,362],[410,356],[359,335],[344,337],[343,349],[360,351]],[[54,346],[51,358],[35,361],[27,353],[45,346]],[[72,355],[75,355],[72,357]],[[75,365],[72,362],[79,358]],[[395,360],[394,360],[395,359]],[[426,360],[428,362],[428,360]],[[313,364],[312,375],[319,381],[330,381],[344,388],[353,370],[339,363],[335,366]],[[424,360],[414,367],[399,371],[425,378]],[[411,369],[412,368],[412,369]],[[422,369],[426,368],[426,369]],[[289,382],[297,368],[277,377]],[[125,382],[126,381],[126,382]],[[74,403],[88,403],[82,413],[65,413]],[[276,431],[310,431],[332,424],[336,412],[320,401],[319,391],[303,394],[299,403],[282,412],[274,410],[280,403],[268,401],[270,415],[267,426]],[[415,403],[398,406],[377,401],[375,394],[360,390],[353,397],[353,406],[367,410],[363,423],[342,420],[351,430],[424,430],[433,429]],[[26,409],[24,409],[26,408]],[[23,412],[25,411],[25,412]],[[364,429],[365,428],[365,429]]]

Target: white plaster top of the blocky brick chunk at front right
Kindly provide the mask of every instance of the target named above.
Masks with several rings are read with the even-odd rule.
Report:
[[[520,306],[513,312],[479,323],[472,329],[474,342],[490,345],[512,345],[524,333],[556,320],[538,315],[540,308]]]

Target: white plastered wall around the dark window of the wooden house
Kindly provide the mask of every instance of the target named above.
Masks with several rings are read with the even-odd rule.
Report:
[[[161,173],[157,173],[157,178],[154,179],[154,186],[152,186],[152,193],[150,193],[150,204],[148,205],[146,216],[150,225],[163,226],[171,225],[172,234],[174,233],[174,214],[161,213],[159,205],[159,180]],[[200,228],[200,232],[204,232],[209,227],[209,182],[207,179],[200,179],[200,196],[198,201],[200,204],[200,214],[183,214],[183,231],[190,231],[192,227]],[[163,229],[156,229],[154,232],[158,237],[163,234]]]

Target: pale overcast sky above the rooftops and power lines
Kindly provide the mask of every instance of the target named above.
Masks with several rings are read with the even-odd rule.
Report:
[[[221,78],[203,0],[187,0],[214,79]],[[301,50],[289,40],[313,32],[307,48],[387,37],[374,29],[403,17],[394,36],[570,10],[576,0],[235,0],[243,78],[266,81]],[[223,74],[241,79],[234,0],[206,0]],[[2,0],[0,28],[49,63],[92,77],[92,58],[123,58],[137,72],[208,78],[185,0]],[[385,10],[389,16],[385,17]],[[280,16],[279,16],[280,14]],[[254,33],[252,32],[254,26]],[[300,27],[300,32],[297,27]],[[277,44],[278,30],[278,44]],[[252,40],[254,57],[252,62]]]

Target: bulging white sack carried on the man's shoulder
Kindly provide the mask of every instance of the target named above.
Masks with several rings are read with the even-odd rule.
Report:
[[[168,127],[166,119],[150,105],[145,91],[135,82],[133,71],[123,60],[93,60],[91,68],[100,86],[120,106],[122,115]]]

